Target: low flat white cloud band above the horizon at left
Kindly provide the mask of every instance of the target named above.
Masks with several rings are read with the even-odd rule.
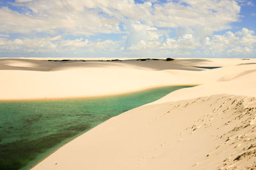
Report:
[[[105,41],[88,41],[88,39],[77,38],[63,40],[61,36],[47,37],[47,38],[24,38],[8,40],[7,38],[0,38],[0,51],[8,52],[76,52],[76,53],[92,53],[92,52],[119,52],[124,50],[120,46],[120,41],[113,41],[111,39]]]

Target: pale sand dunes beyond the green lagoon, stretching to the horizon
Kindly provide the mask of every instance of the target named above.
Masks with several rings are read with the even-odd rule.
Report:
[[[253,73],[254,62],[255,59],[176,59],[168,62],[0,59],[0,99],[104,96],[166,85],[229,81]],[[221,67],[203,69],[197,66]]]

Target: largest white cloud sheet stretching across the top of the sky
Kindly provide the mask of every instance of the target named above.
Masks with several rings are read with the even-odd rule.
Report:
[[[118,24],[141,21],[149,27],[170,27],[189,30],[184,34],[211,35],[230,28],[239,19],[240,6],[236,1],[167,1],[152,4],[133,0],[73,0],[17,1],[31,11],[18,13],[6,7],[0,9],[0,32],[29,33],[64,31],[65,34],[93,35],[120,32]],[[185,6],[182,3],[188,4]],[[28,13],[30,15],[28,15]],[[15,22],[13,22],[15,20]],[[187,28],[187,29],[185,29]]]

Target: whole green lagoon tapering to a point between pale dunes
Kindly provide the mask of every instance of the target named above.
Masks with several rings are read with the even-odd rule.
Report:
[[[28,169],[96,125],[185,87],[122,96],[0,102],[0,169]]]

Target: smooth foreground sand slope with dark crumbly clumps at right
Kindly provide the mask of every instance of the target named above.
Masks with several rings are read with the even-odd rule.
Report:
[[[254,167],[256,99],[230,95],[141,106],[86,132],[34,169]]]

